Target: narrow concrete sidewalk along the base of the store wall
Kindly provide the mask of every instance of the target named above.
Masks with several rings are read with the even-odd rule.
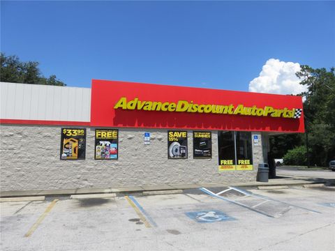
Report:
[[[0,197],[34,197],[34,196],[69,196],[69,195],[90,195],[90,194],[108,194],[108,193],[140,193],[147,191],[162,191],[162,190],[185,190],[192,188],[216,188],[216,187],[267,187],[274,185],[308,185],[324,183],[325,185],[335,185],[334,178],[311,178],[311,177],[295,177],[281,176],[274,179],[269,179],[265,182],[248,182],[248,183],[197,183],[197,184],[179,184],[179,185],[139,185],[115,188],[73,188],[73,189],[54,189],[54,190],[13,190],[1,191]]]

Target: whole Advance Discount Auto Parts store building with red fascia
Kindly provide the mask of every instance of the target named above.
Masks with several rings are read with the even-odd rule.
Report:
[[[255,181],[301,97],[92,80],[1,82],[1,191]]]

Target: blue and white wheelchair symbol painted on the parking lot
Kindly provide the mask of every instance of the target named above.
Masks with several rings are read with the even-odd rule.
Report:
[[[200,223],[236,220],[225,213],[217,210],[205,210],[185,213],[189,218]]]

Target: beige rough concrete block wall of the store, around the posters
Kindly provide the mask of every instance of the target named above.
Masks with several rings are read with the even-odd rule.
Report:
[[[80,128],[80,127],[78,127]],[[253,171],[218,172],[218,133],[212,131],[211,159],[168,159],[168,130],[119,128],[119,160],[94,160],[94,129],[87,128],[86,160],[60,160],[61,126],[0,126],[1,191],[104,188],[128,185],[234,183],[255,181],[262,162],[260,133],[253,145]],[[151,132],[144,146],[144,132]]]

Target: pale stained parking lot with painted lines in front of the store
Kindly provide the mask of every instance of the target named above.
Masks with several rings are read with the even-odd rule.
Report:
[[[1,250],[334,250],[334,188],[1,203]]]

